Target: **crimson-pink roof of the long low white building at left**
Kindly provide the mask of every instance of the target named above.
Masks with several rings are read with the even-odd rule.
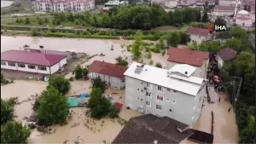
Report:
[[[39,66],[53,66],[66,57],[67,55],[53,55],[23,50],[8,50],[1,53],[1,60]]]

